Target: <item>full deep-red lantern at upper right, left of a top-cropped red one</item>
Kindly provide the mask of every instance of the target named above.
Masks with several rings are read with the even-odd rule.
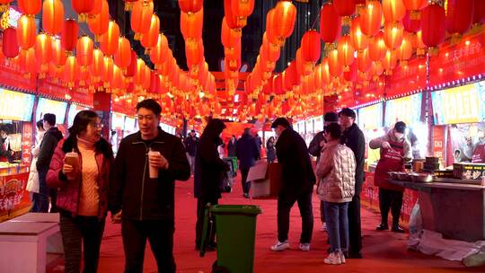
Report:
[[[425,45],[436,48],[445,41],[445,9],[429,4],[421,12],[421,31]]]

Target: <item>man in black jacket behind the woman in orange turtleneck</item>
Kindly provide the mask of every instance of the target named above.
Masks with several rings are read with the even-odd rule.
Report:
[[[44,138],[40,143],[39,157],[37,158],[37,172],[39,172],[39,193],[32,195],[33,206],[31,212],[48,212],[48,198],[50,196],[50,212],[57,212],[57,189],[48,189],[46,177],[52,155],[56,150],[57,142],[62,139],[62,133],[56,126],[56,115],[46,113],[43,118],[46,129]]]

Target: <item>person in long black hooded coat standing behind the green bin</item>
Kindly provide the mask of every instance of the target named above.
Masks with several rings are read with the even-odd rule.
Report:
[[[221,198],[222,174],[229,171],[229,165],[217,153],[217,146],[222,143],[219,136],[224,129],[225,124],[221,119],[211,119],[198,144],[194,174],[194,196],[197,198],[196,249],[199,249],[202,239],[206,205],[218,203]],[[209,251],[216,248],[215,235],[216,230],[213,228],[212,233],[208,234]]]

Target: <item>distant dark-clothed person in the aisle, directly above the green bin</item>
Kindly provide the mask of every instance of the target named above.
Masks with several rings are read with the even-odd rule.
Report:
[[[249,198],[251,182],[247,182],[249,169],[260,158],[260,146],[256,138],[251,137],[251,128],[244,128],[244,133],[236,145],[236,156],[241,170],[242,196]]]

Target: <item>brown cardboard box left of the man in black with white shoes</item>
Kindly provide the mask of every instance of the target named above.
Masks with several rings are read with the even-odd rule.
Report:
[[[251,198],[278,198],[281,165],[259,161],[251,167],[248,181],[251,181]]]

